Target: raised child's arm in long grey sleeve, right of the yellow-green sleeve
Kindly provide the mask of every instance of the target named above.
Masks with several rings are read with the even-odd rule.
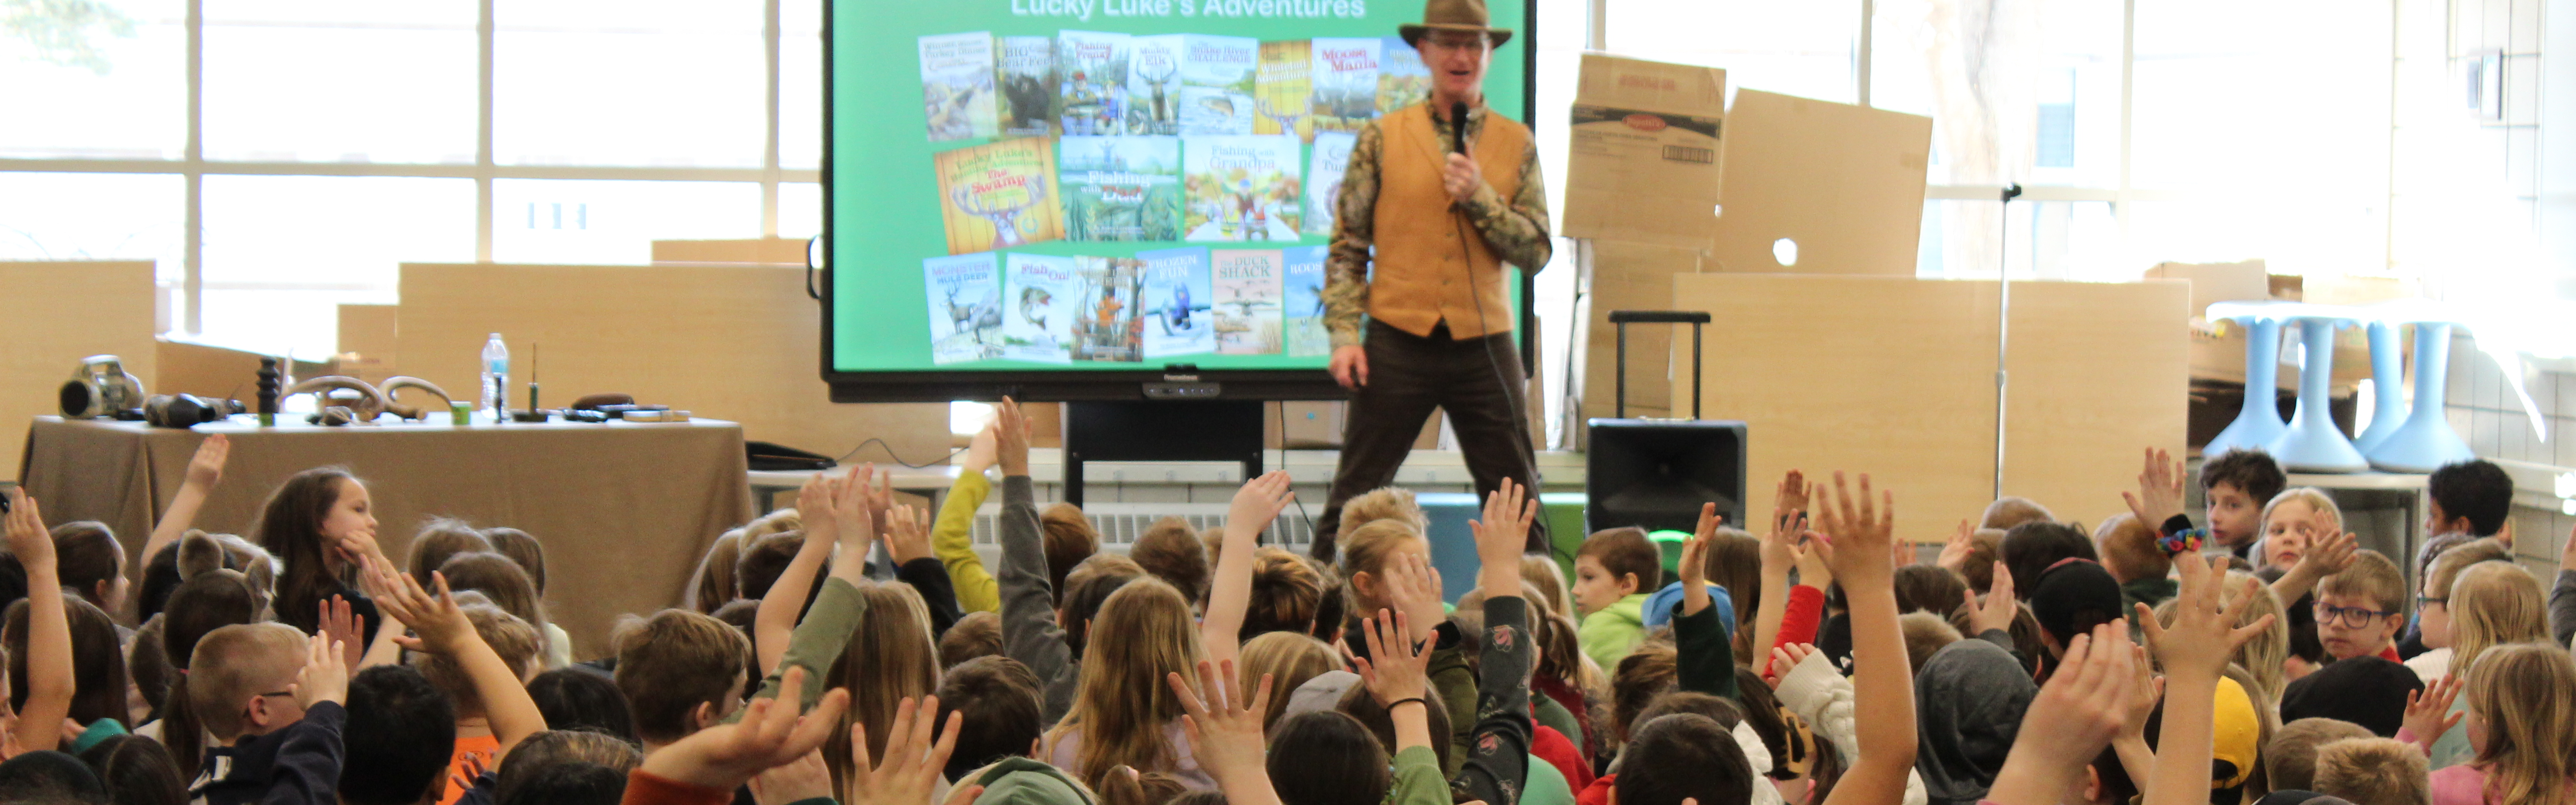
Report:
[[[1002,655],[1038,676],[1038,725],[1054,725],[1074,707],[1082,668],[1056,624],[1056,591],[1046,575],[1046,544],[1038,532],[1036,490],[1028,480],[1028,415],[1002,397],[994,418],[1002,462]]]

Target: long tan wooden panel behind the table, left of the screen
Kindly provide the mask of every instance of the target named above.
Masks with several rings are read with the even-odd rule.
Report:
[[[544,405],[629,392],[829,457],[866,439],[907,462],[948,454],[948,405],[829,402],[804,268],[404,263],[397,328],[402,372],[451,395],[477,395],[482,343],[502,333],[520,405],[533,369]]]

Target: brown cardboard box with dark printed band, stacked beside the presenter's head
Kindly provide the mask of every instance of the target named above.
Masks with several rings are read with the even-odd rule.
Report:
[[[1584,54],[1561,235],[1708,248],[1723,124],[1726,70]]]

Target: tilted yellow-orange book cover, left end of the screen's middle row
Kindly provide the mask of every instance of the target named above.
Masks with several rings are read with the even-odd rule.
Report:
[[[987,142],[940,152],[933,163],[951,255],[1064,237],[1056,150],[1048,139]]]

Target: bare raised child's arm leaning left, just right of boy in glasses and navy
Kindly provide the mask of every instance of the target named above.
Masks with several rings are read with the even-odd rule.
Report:
[[[518,668],[510,668],[492,645],[482,642],[474,622],[456,606],[456,593],[448,591],[446,575],[430,573],[430,581],[438,583],[438,596],[420,588],[420,581],[410,573],[394,573],[389,565],[368,562],[366,575],[374,588],[386,591],[386,596],[376,599],[376,606],[420,632],[420,637],[394,640],[410,650],[456,658],[456,666],[474,681],[474,697],[484,702],[484,720],[492,722],[492,738],[500,740],[500,751],[492,753],[495,764],[510,756],[518,740],[546,730],[546,715],[536,710],[528,686],[518,681]]]

